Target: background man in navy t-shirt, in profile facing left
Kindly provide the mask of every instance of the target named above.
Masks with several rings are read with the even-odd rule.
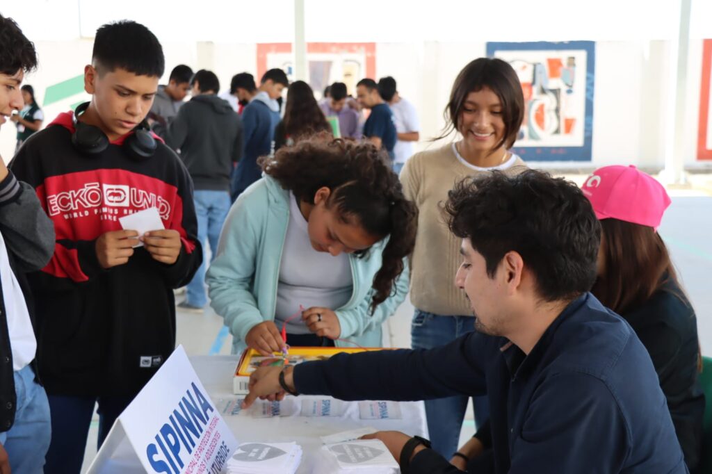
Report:
[[[371,110],[363,126],[363,136],[378,149],[385,149],[395,159],[393,148],[396,146],[396,122],[391,107],[383,101],[378,93],[378,84],[373,79],[362,79],[356,85],[356,98],[358,102]]]

